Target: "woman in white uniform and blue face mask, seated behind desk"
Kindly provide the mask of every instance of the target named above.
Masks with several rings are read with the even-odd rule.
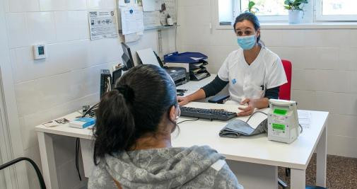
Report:
[[[262,45],[257,16],[242,13],[233,25],[240,49],[228,55],[218,76],[203,88],[186,97],[177,97],[180,105],[216,95],[227,84],[230,102],[246,104],[239,116],[250,115],[254,108],[267,108],[270,98],[279,97],[279,86],[286,74],[281,59]]]

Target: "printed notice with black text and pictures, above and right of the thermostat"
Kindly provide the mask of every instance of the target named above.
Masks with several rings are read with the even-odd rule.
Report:
[[[90,11],[88,18],[90,40],[118,37],[114,11]]]

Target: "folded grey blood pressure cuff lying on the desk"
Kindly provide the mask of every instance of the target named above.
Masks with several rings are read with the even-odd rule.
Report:
[[[262,132],[267,132],[268,119],[262,121],[258,127],[254,130],[254,128],[250,127],[250,125],[242,120],[233,120],[228,122],[228,124],[223,127],[223,129],[219,132],[220,137],[229,137],[229,138],[238,138],[241,135],[243,136],[252,136],[254,134],[260,134]]]

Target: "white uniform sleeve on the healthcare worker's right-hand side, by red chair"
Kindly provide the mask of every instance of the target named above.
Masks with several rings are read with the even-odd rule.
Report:
[[[271,67],[268,67],[267,71],[267,89],[281,86],[288,82],[283,63],[279,57],[276,57],[274,63]]]

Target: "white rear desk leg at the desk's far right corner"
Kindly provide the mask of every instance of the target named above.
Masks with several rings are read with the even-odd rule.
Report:
[[[317,143],[316,156],[316,185],[326,187],[326,164],[327,164],[327,126]]]

